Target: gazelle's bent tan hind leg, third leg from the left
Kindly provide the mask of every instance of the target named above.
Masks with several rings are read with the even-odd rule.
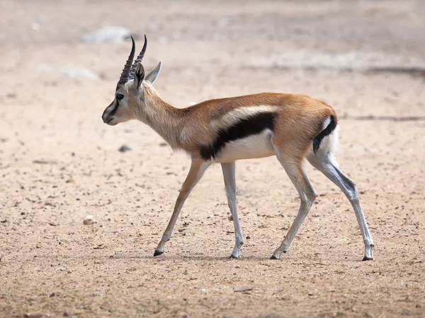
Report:
[[[300,229],[302,222],[307,216],[307,213],[310,211],[314,199],[316,199],[317,196],[314,188],[312,187],[312,184],[310,183],[310,180],[308,179],[307,175],[305,175],[303,159],[295,160],[288,158],[286,155],[283,157],[279,151],[276,151],[276,157],[285,169],[285,172],[288,174],[290,180],[297,188],[297,192],[300,195],[300,209],[298,210],[293,224],[290,225],[288,233],[283,239],[282,244],[273,253],[271,259],[279,259],[280,254],[288,252],[288,249],[292,244],[295,235]]]

